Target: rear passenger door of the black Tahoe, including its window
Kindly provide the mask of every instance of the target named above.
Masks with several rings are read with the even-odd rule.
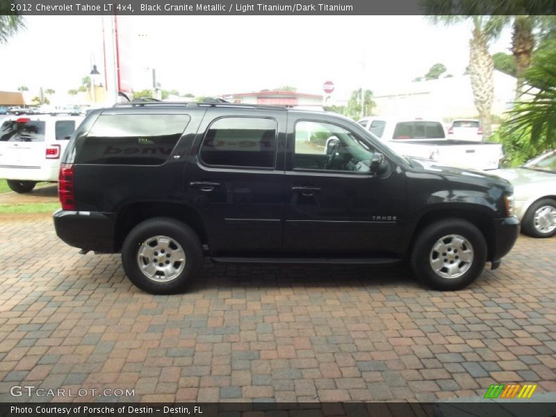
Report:
[[[286,111],[207,111],[186,166],[186,201],[213,255],[281,250]]]

